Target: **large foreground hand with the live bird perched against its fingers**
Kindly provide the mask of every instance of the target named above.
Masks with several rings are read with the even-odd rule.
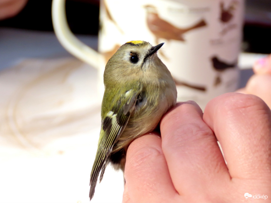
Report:
[[[161,138],[130,144],[123,202],[247,202],[247,192],[256,195],[249,202],[270,202],[270,121],[254,95],[223,94],[204,114],[195,102],[178,103],[161,120]]]

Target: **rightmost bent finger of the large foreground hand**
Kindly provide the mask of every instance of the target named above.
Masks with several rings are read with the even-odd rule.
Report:
[[[223,94],[206,105],[203,120],[216,134],[232,178],[270,181],[271,112],[259,97]]]

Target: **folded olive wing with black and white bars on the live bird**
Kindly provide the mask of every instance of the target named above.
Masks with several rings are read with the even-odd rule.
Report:
[[[99,173],[101,171],[101,182],[107,164],[107,158],[112,152],[114,144],[123,132],[129,120],[130,114],[134,110],[134,106],[137,102],[137,97],[139,95],[139,91],[137,89],[129,89],[128,91],[119,93],[120,94],[115,93],[115,95],[120,95],[117,98],[110,97],[110,93],[105,94],[104,96],[104,100],[108,100],[109,102],[106,103],[110,105],[110,108],[105,107],[105,109],[110,110],[107,110],[104,117],[102,118],[102,127],[100,131],[98,149],[90,175],[90,199],[92,199],[94,195]]]

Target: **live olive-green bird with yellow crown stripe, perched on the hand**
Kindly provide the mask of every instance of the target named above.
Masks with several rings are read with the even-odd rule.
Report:
[[[90,175],[90,200],[108,163],[124,171],[129,144],[153,131],[176,104],[176,85],[156,53],[163,44],[127,42],[105,66],[102,126]]]

